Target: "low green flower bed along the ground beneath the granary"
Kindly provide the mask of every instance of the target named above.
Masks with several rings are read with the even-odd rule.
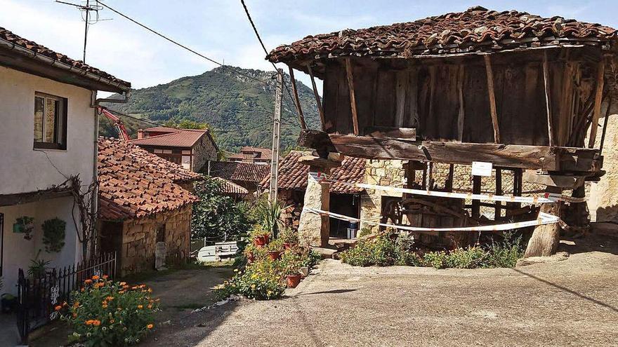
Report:
[[[380,233],[360,240],[341,253],[341,261],[353,266],[431,266],[434,268],[513,267],[523,256],[521,237],[506,234],[501,243],[458,248],[451,251],[421,252],[404,234]]]

